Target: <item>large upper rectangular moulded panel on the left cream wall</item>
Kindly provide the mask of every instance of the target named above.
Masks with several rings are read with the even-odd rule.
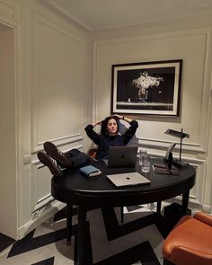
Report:
[[[46,140],[80,137],[84,41],[38,14],[33,20],[33,149]]]

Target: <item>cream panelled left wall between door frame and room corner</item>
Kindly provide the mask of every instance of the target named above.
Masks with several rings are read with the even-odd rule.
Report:
[[[89,117],[87,33],[37,1],[30,1],[23,17],[22,27],[28,28],[22,31],[22,39],[30,38],[24,65],[30,67],[30,86],[24,87],[24,97],[28,95],[30,103],[22,106],[22,118],[29,124],[26,131],[22,124],[29,140],[27,144],[22,141],[24,176],[28,179],[27,186],[22,183],[22,189],[30,187],[27,191],[30,203],[22,198],[22,207],[28,211],[20,216],[19,234],[31,230],[38,225],[38,219],[43,221],[43,216],[52,214],[60,205],[50,195],[51,176],[38,161],[37,152],[47,140],[63,151],[73,147],[84,149],[84,125]]]

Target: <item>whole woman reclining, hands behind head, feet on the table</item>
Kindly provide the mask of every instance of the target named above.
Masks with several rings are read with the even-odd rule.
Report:
[[[126,120],[130,127],[126,132],[119,134],[119,119]],[[93,128],[102,125],[101,134],[97,134]],[[135,135],[137,130],[137,120],[124,116],[113,115],[102,121],[89,124],[84,128],[87,136],[98,146],[96,159],[108,157],[110,146],[126,146],[129,140]],[[45,152],[40,151],[38,158],[41,163],[49,167],[49,171],[54,176],[60,176],[63,168],[76,167],[90,161],[90,157],[77,149],[63,153],[51,142],[45,142]]]

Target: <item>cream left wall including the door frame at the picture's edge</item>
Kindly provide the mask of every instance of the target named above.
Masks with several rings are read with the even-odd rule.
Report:
[[[91,45],[86,31],[36,0],[0,0],[0,24],[13,32],[9,40],[0,34],[1,167],[7,172],[0,232],[22,238],[63,207],[51,197],[51,175],[37,158],[43,143],[84,149]]]

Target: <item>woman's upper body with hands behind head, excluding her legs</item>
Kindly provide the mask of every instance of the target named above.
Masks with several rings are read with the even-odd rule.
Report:
[[[123,135],[119,133],[119,119],[127,121],[130,125]],[[97,125],[102,125],[101,134],[93,130]],[[87,136],[98,146],[96,159],[99,160],[108,158],[110,146],[126,146],[129,140],[135,135],[137,127],[137,120],[129,119],[125,116],[113,115],[102,121],[89,124],[84,129]]]

